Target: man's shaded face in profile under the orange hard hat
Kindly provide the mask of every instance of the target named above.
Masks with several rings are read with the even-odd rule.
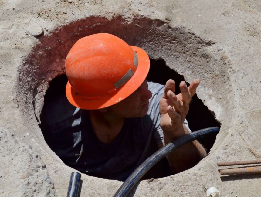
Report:
[[[151,97],[152,93],[148,90],[148,83],[144,80],[134,93],[123,101],[108,107],[108,110],[124,118],[143,117],[147,114]]]

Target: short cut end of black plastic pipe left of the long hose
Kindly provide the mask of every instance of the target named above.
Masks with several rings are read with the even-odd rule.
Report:
[[[67,197],[78,197],[80,188],[81,174],[79,172],[72,172],[69,182]]]

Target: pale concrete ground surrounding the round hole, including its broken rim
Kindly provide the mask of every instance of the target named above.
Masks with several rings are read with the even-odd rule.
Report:
[[[259,0],[0,0],[0,196],[66,196],[74,170],[44,141],[39,115],[48,82],[64,73],[80,37],[113,33],[152,59],[200,78],[197,94],[222,124],[195,167],[144,180],[130,196],[260,196],[261,176],[220,177],[217,162],[261,154]],[[44,35],[35,38],[32,33]],[[81,196],[112,196],[122,182],[82,174]]]

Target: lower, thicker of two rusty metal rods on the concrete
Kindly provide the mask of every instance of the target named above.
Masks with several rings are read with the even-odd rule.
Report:
[[[261,173],[261,166],[220,170],[220,175],[245,175]]]

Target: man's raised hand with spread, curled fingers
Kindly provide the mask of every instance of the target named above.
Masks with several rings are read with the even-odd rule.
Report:
[[[199,83],[200,80],[195,79],[190,86],[187,87],[185,81],[182,81],[179,85],[181,93],[175,95],[175,82],[173,80],[167,81],[159,106],[161,115],[160,124],[164,133],[176,135],[176,137],[182,135],[178,133],[175,134],[174,132],[179,130],[178,128],[183,125],[185,117],[188,114],[189,103]]]

